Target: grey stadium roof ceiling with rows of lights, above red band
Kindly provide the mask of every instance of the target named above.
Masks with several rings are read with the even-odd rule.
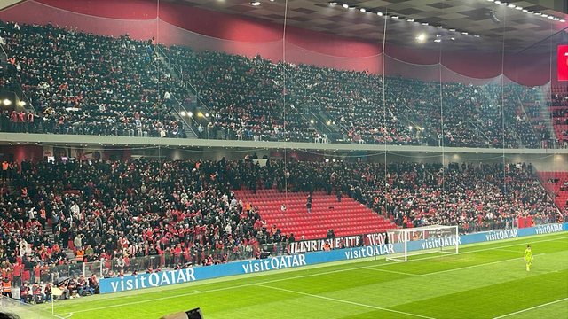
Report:
[[[166,0],[170,1],[170,0]],[[210,1],[177,0],[193,7],[237,14],[249,18],[264,19],[282,24],[284,0],[262,0],[251,5],[248,0]],[[346,4],[351,9],[346,9]],[[326,32],[349,38],[382,40],[385,15],[397,16],[388,19],[389,43],[413,42],[416,32],[432,35],[455,35],[456,50],[476,49],[492,51],[505,41],[505,49],[520,51],[562,32],[568,27],[564,0],[344,0],[333,2],[321,0],[288,0],[287,25]],[[361,9],[365,9],[364,12]],[[543,17],[535,13],[540,12]],[[426,26],[425,24],[428,24]],[[443,28],[437,28],[440,26]],[[462,33],[468,35],[463,35]],[[504,36],[503,36],[504,34]],[[473,35],[483,38],[480,41]],[[426,43],[435,46],[435,43]]]

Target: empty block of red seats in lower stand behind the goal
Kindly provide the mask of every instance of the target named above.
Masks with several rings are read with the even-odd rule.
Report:
[[[308,213],[305,202],[308,193],[288,192],[288,196],[276,190],[234,191],[237,199],[250,202],[259,209],[260,216],[268,225],[276,224],[282,233],[293,233],[296,240],[325,238],[327,230],[333,229],[336,237],[370,234],[396,228],[367,206],[343,196],[337,202],[335,195],[316,191],[312,196],[312,213]],[[280,206],[286,205],[286,211]]]

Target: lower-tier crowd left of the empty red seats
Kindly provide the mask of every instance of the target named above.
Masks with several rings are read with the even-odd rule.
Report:
[[[3,275],[36,284],[53,269],[78,278],[83,262],[104,276],[207,266],[287,240],[233,197],[229,169],[225,160],[12,163],[0,192]]]

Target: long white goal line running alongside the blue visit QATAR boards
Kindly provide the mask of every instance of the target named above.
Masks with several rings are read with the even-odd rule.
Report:
[[[533,241],[532,243],[553,242],[553,241],[563,240],[563,239],[566,239],[566,238],[568,238],[568,237],[558,237],[558,238],[555,238],[555,239],[537,240],[537,241]],[[467,252],[464,252],[464,253],[485,252],[485,251],[499,249],[501,247],[511,247],[511,246],[516,246],[516,245],[523,245],[523,244],[502,245],[502,246],[493,247],[493,248],[471,250],[471,251],[467,251]],[[464,253],[461,253],[461,254],[464,254]],[[358,269],[368,268],[368,267],[383,267],[383,266],[394,265],[394,264],[398,264],[398,263],[402,263],[402,262],[424,261],[424,260],[430,260],[430,259],[446,257],[446,256],[447,255],[436,255],[436,256],[430,256],[430,257],[424,257],[424,258],[416,258],[416,259],[412,259],[412,260],[409,260],[409,261],[393,261],[393,262],[390,262],[390,263],[380,264],[380,265],[377,265],[377,266],[360,266],[360,267],[353,267],[353,268],[343,268],[343,269],[330,270],[330,271],[320,272],[320,273],[310,274],[310,275],[291,276],[291,277],[286,277],[286,278],[281,278],[281,279],[273,279],[273,280],[264,281],[264,282],[258,283],[258,284],[272,284],[272,283],[278,283],[280,281],[286,281],[286,280],[301,279],[301,278],[307,278],[307,277],[312,277],[312,276],[329,275],[329,274],[335,274],[335,273],[339,273],[339,272],[343,272],[343,271],[358,270]],[[353,261],[357,261],[357,260],[353,260]],[[302,270],[302,268],[297,268],[297,270]],[[276,274],[277,274],[277,272],[276,272]],[[198,294],[198,293],[204,293],[204,292],[222,292],[222,291],[225,291],[225,290],[244,288],[244,287],[249,287],[249,286],[252,286],[252,285],[255,285],[255,284],[238,284],[238,285],[234,285],[234,286],[222,287],[222,288],[217,288],[217,289],[210,289],[210,290],[201,291],[201,292],[186,292],[186,293],[180,293],[180,294],[172,295],[172,296],[154,298],[154,299],[150,299],[150,300],[138,300],[138,301],[125,302],[125,303],[122,303],[122,304],[110,305],[110,306],[105,306],[105,307],[94,307],[94,308],[75,310],[74,313],[97,311],[97,310],[107,309],[107,308],[112,308],[112,307],[138,305],[138,304],[142,304],[142,303],[146,303],[146,302],[153,302],[153,301],[158,301],[158,300],[169,300],[169,299],[173,299],[173,298],[192,296],[192,295],[195,295],[195,294]]]

